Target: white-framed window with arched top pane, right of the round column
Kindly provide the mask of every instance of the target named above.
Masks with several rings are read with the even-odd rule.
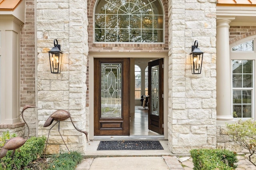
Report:
[[[231,48],[232,113],[234,118],[255,116],[255,39],[243,41]]]

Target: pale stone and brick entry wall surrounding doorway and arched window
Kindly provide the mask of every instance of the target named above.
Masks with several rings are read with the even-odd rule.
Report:
[[[48,134],[49,128],[42,125],[56,109],[70,111],[76,125],[80,125],[78,128],[87,129],[88,80],[85,73],[88,48],[99,52],[169,50],[170,150],[184,154],[193,148],[216,148],[216,0],[164,0],[164,10],[168,10],[165,28],[169,30],[166,31],[166,43],[162,45],[94,44],[95,1],[88,1],[89,20],[86,3],[83,0],[37,2],[38,135]],[[53,46],[53,39],[58,39],[65,52],[61,74],[51,74],[48,66],[48,51]],[[199,75],[191,74],[189,64],[194,40],[198,40],[199,48],[204,51],[202,74]],[[74,130],[70,121],[60,125],[60,133],[69,149],[84,149],[85,139]],[[51,153],[66,150],[57,127],[52,129],[49,144]]]

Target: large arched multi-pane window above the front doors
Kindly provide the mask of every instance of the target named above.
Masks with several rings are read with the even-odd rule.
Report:
[[[159,0],[98,0],[94,15],[95,42],[164,41]]]

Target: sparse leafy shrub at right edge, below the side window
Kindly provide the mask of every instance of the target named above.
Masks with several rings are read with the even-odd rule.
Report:
[[[251,156],[256,152],[256,122],[252,119],[246,121],[239,120],[237,124],[226,124],[227,133],[230,135],[235,143],[247,149]],[[255,165],[255,162],[252,162]]]

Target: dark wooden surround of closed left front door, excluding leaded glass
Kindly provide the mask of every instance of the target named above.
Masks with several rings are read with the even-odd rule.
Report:
[[[94,58],[94,62],[94,135],[130,135],[130,59]],[[121,64],[120,117],[102,117],[102,63]]]

